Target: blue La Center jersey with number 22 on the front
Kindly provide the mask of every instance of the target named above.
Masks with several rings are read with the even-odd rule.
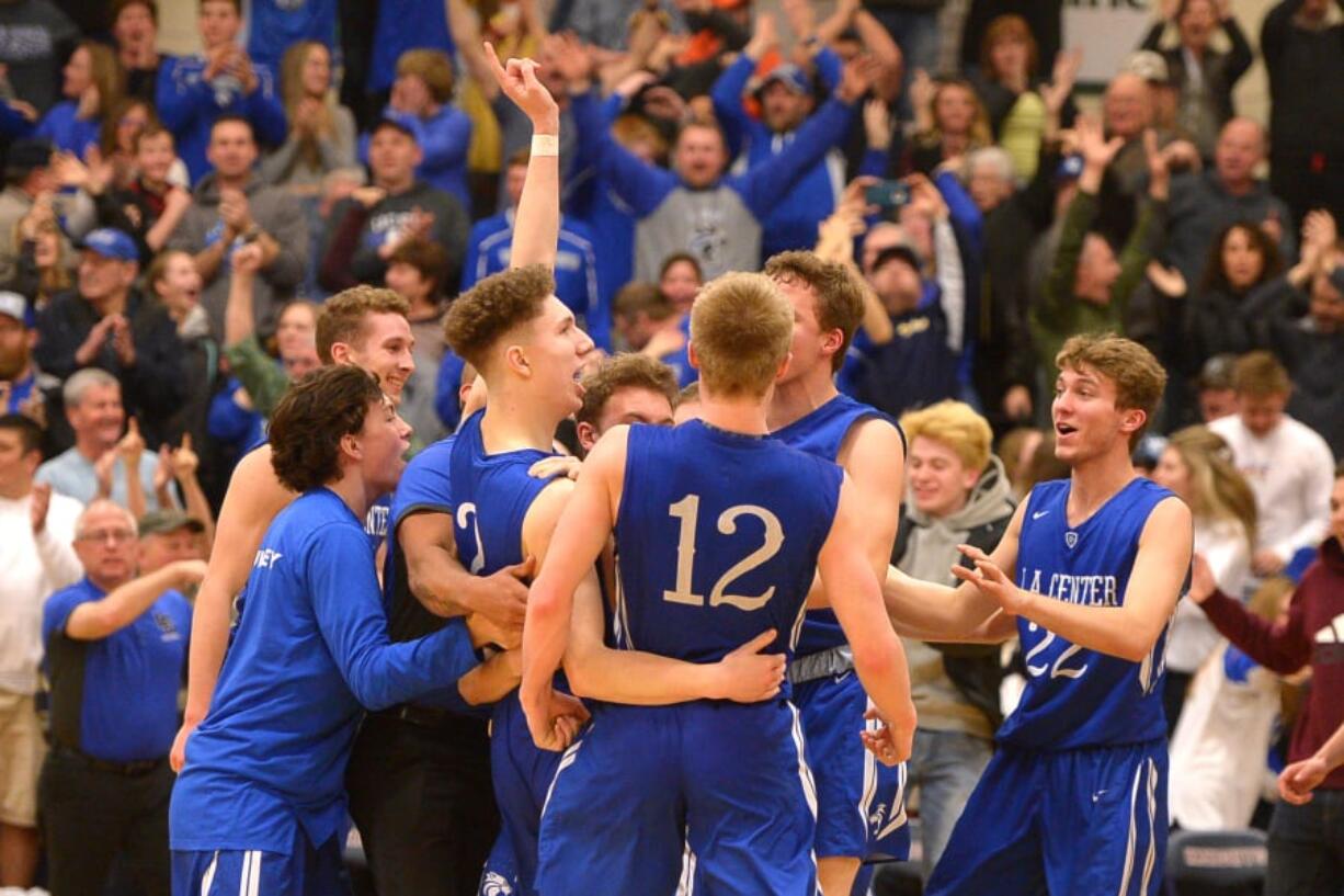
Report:
[[[1070,527],[1067,479],[1032,488],[1021,518],[1017,587],[1086,607],[1125,603],[1138,538],[1172,492],[1133,479],[1086,522]],[[1032,749],[1120,747],[1165,739],[1163,675],[1167,631],[1134,663],[1089,650],[1017,619],[1027,689],[999,740]]]

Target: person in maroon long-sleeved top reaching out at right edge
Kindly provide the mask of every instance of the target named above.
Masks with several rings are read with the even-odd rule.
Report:
[[[1278,463],[1292,461],[1279,459]],[[1218,631],[1251,659],[1281,675],[1310,666],[1312,687],[1293,725],[1290,763],[1312,756],[1344,722],[1344,663],[1339,662],[1339,619],[1344,615],[1344,471],[1336,471],[1328,494],[1329,535],[1321,545],[1320,557],[1302,574],[1286,619],[1273,623],[1259,619],[1236,597],[1220,593],[1208,564],[1199,554],[1189,585],[1189,599],[1200,604]],[[1335,819],[1341,809],[1341,770],[1331,772],[1305,806],[1285,800],[1274,807],[1266,896],[1339,889],[1344,829]]]

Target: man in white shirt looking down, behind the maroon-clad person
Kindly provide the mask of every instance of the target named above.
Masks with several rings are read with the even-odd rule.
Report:
[[[1236,416],[1208,428],[1231,447],[1236,468],[1255,492],[1259,527],[1251,570],[1277,576],[1297,552],[1324,538],[1335,461],[1324,439],[1284,413],[1293,383],[1274,355],[1242,355],[1232,386]]]

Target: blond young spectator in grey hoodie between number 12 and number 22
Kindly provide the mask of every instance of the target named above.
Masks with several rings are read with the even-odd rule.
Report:
[[[969,565],[958,545],[988,550],[1008,529],[1015,506],[1008,476],[989,453],[989,424],[969,405],[941,401],[906,413],[900,428],[910,440],[909,498],[891,561],[910,576],[952,584],[948,568]],[[909,786],[919,790],[927,879],[993,752],[1003,671],[997,644],[902,640],[919,712],[907,764]]]

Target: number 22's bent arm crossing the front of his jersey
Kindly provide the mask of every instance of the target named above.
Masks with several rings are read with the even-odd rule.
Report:
[[[1177,498],[1159,503],[1138,538],[1138,554],[1120,607],[1086,607],[1023,591],[992,557],[965,545],[961,550],[976,566],[954,566],[953,574],[993,597],[1008,613],[1081,647],[1137,663],[1152,652],[1171,620],[1189,569],[1193,538],[1189,509]]]

